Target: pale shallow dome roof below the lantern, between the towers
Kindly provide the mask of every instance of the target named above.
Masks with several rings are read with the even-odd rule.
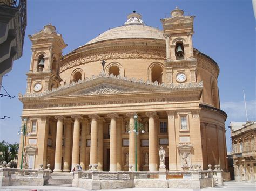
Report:
[[[163,31],[146,25],[124,25],[110,29],[98,37],[90,40],[87,44],[98,41],[120,39],[120,38],[150,38],[165,40]]]

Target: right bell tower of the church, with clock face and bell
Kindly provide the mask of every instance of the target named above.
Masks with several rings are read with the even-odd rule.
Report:
[[[197,59],[193,56],[194,16],[184,16],[176,7],[171,17],[160,19],[166,38],[166,82],[196,82]]]

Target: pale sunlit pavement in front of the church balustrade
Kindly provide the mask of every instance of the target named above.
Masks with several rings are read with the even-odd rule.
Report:
[[[46,191],[46,190],[84,190],[83,188],[77,187],[63,187],[63,186],[8,186],[8,187],[0,187],[0,190],[8,190],[8,191]],[[235,182],[235,181],[226,181],[224,182],[224,186],[218,186],[214,188],[202,188],[202,189],[192,189],[192,188],[124,188],[124,189],[114,189],[114,191],[199,191],[199,190],[230,190],[230,191],[255,191],[256,183],[248,183],[248,182]],[[108,190],[104,190],[108,191]],[[113,190],[112,190],[113,191]]]

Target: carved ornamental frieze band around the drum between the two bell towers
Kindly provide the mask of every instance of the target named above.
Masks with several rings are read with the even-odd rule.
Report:
[[[157,51],[151,49],[136,49],[136,50],[118,50],[118,51],[105,51],[96,54],[91,54],[78,58],[70,62],[63,62],[60,67],[60,73],[73,66],[78,66],[88,62],[101,61],[102,59],[128,59],[128,58],[145,58],[145,59],[165,59],[164,51]]]

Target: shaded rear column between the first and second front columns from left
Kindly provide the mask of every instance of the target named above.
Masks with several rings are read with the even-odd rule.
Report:
[[[70,172],[70,154],[71,154],[71,125],[72,119],[65,120],[65,142],[64,142],[64,165],[63,172]]]

